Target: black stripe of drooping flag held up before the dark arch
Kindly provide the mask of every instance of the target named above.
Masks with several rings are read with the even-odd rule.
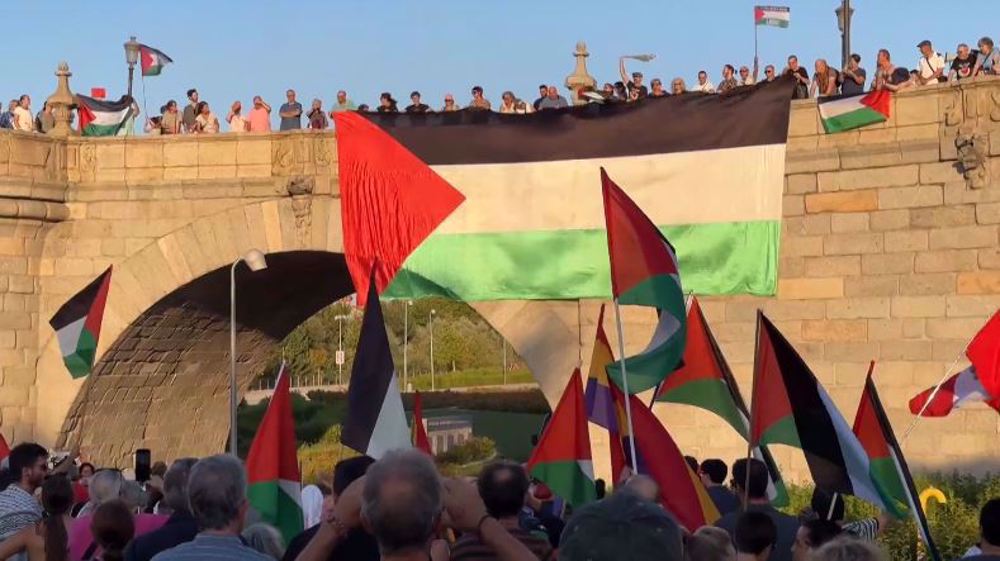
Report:
[[[363,454],[368,453],[396,370],[375,288],[374,267],[368,286],[368,305],[361,320],[361,336],[347,388],[347,419],[340,433],[340,441],[344,445]]]

